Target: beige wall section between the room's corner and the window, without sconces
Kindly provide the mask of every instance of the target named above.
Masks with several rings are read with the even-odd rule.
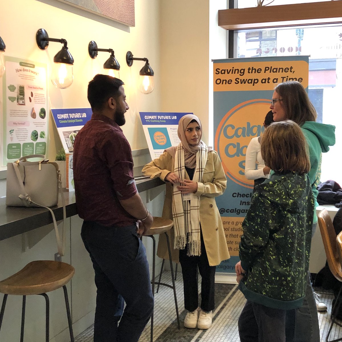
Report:
[[[218,10],[226,0],[162,0],[160,6],[161,111],[193,112],[202,139],[212,144],[212,62],[226,57]]]

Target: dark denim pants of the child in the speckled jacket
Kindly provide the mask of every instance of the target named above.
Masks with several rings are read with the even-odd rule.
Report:
[[[241,342],[285,342],[286,310],[247,301],[239,317]]]

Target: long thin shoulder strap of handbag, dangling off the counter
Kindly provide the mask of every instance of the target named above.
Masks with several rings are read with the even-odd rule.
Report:
[[[17,176],[18,183],[19,183],[19,186],[20,186],[21,192],[22,192],[22,194],[19,195],[19,198],[21,198],[23,200],[25,206],[29,207],[30,203],[34,203],[38,207],[46,208],[46,209],[48,209],[50,211],[50,213],[52,215],[53,225],[54,225],[54,228],[55,228],[57,250],[58,250],[58,253],[61,255],[61,257],[63,257],[63,255],[65,253],[65,243],[66,243],[65,226],[64,226],[64,222],[66,220],[66,209],[65,209],[65,202],[64,202],[63,192],[62,192],[62,179],[61,179],[61,172],[60,172],[60,170],[57,171],[57,174],[58,174],[58,192],[61,195],[62,206],[63,206],[62,241],[61,241],[61,238],[60,238],[60,234],[58,232],[58,227],[57,227],[57,222],[56,222],[55,214],[53,213],[53,211],[49,207],[42,206],[39,203],[36,203],[36,202],[31,200],[30,196],[25,191],[23,180],[21,178],[21,175],[20,175],[20,172],[19,172],[19,169],[18,169],[18,164],[16,162],[14,162],[14,163],[12,163],[12,165],[14,167],[14,171],[15,171],[15,174]]]

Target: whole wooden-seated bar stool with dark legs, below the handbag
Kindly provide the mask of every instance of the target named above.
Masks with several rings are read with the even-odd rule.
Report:
[[[23,296],[22,322],[20,342],[24,341],[24,323],[25,323],[25,304],[26,296],[30,294],[39,294],[45,298],[46,319],[45,319],[45,341],[49,342],[49,320],[50,305],[49,297],[46,292],[63,287],[66,313],[68,318],[70,340],[74,342],[73,326],[71,322],[70,307],[66,284],[73,277],[75,268],[65,262],[52,260],[39,260],[28,263],[19,272],[0,281],[0,292],[4,294],[0,311],[0,329],[2,318],[5,311],[7,296],[9,294]]]

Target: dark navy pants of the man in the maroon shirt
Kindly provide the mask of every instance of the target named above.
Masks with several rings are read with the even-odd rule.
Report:
[[[154,299],[136,226],[104,227],[84,221],[81,237],[97,287],[94,342],[137,342],[152,315]]]

